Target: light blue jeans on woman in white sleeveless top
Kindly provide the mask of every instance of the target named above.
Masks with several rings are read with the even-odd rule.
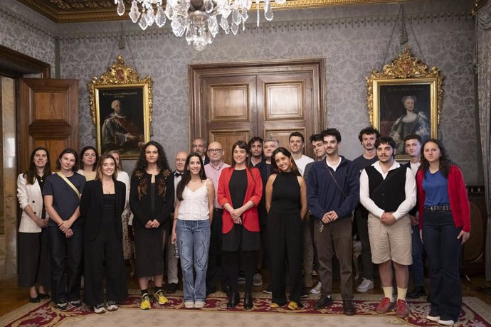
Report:
[[[210,235],[210,220],[177,220],[184,302],[204,301],[206,298]]]

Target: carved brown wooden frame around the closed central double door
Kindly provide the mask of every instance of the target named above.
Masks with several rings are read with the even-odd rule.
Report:
[[[325,77],[325,59],[324,58],[292,58],[292,59],[275,59],[275,60],[253,60],[238,63],[207,63],[188,65],[189,81],[189,144],[196,137],[206,137],[201,135],[203,117],[201,114],[203,108],[201,104],[201,80],[204,77],[222,77],[232,74],[253,74],[257,73],[280,73],[285,70],[285,66],[295,65],[295,69],[290,71],[312,70],[313,76],[317,81],[312,81],[312,85],[318,83],[320,92],[315,92],[315,103],[312,104],[314,115],[314,130],[319,133],[324,129],[326,117],[326,77]],[[317,83],[316,83],[317,82]],[[318,94],[317,94],[318,93]],[[306,136],[308,137],[308,136]],[[207,140],[208,141],[208,140]]]

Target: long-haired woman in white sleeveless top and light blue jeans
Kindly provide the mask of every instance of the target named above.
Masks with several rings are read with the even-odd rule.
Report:
[[[184,306],[201,309],[206,298],[206,269],[210,246],[215,189],[206,179],[197,153],[186,159],[184,176],[176,188],[179,203],[174,211],[171,242],[179,245]]]

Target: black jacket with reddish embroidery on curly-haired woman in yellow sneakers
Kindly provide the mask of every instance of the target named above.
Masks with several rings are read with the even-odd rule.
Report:
[[[174,211],[174,175],[161,171],[155,176],[157,195],[152,212],[150,203],[150,181],[152,175],[146,171],[134,171],[131,176],[130,207],[133,213],[133,228],[144,229],[149,220],[157,219],[159,228],[168,230],[169,215]]]

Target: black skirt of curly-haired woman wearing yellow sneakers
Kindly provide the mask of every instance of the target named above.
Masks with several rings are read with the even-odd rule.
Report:
[[[136,277],[153,277],[164,274],[164,229],[134,229],[134,262]]]

